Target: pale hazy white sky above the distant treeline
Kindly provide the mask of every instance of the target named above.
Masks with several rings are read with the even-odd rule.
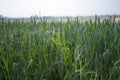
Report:
[[[0,0],[7,17],[120,14],[120,0]]]

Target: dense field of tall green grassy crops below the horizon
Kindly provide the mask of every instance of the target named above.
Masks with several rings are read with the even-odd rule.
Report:
[[[0,80],[119,80],[120,22],[0,20]]]

